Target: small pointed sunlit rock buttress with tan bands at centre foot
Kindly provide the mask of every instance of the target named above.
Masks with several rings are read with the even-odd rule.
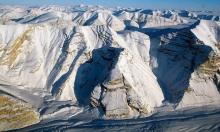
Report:
[[[124,84],[123,75],[116,67],[110,73],[110,76],[103,83],[106,92],[103,95],[102,105],[105,107],[106,116],[129,117],[130,108],[127,102],[127,87]]]

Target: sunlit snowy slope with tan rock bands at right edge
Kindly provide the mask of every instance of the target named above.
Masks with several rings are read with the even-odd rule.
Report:
[[[215,22],[202,20],[191,31],[203,44],[211,47],[212,51],[206,61],[192,73],[189,83],[189,89],[191,90],[184,95],[180,105],[201,106],[203,103],[215,104],[216,101],[220,100],[218,83],[220,28]],[[187,101],[190,98],[194,98],[194,103]]]

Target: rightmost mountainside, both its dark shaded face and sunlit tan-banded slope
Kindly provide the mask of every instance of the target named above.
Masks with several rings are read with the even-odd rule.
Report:
[[[208,25],[212,26],[208,26]],[[210,37],[205,38],[207,29]],[[201,21],[192,30],[184,29],[152,38],[150,65],[158,77],[165,98],[179,107],[200,106],[218,101],[219,27]],[[215,36],[215,37],[214,37]],[[214,98],[212,98],[212,97]]]

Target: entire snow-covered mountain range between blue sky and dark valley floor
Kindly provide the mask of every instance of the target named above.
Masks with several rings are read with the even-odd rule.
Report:
[[[0,7],[0,130],[83,113],[91,114],[85,120],[124,119],[219,107],[213,14]]]

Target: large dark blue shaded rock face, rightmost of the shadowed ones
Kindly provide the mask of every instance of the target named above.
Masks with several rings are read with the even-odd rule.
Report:
[[[162,35],[159,41],[158,47],[151,50],[152,69],[167,99],[177,103],[189,86],[191,73],[208,60],[211,48],[199,42],[190,30]],[[154,66],[154,58],[158,66]]]

